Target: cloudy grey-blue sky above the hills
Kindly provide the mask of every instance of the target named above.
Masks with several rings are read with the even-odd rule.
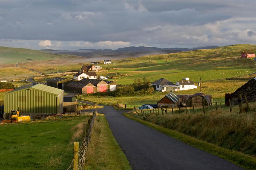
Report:
[[[76,50],[256,44],[255,6],[255,0],[0,0],[0,46]]]

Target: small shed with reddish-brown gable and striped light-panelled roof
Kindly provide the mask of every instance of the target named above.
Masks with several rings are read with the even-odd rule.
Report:
[[[169,94],[165,95],[161,100],[157,102],[158,108],[171,108],[171,107],[177,107],[177,102],[179,101],[179,97],[175,95],[173,92],[170,92]]]

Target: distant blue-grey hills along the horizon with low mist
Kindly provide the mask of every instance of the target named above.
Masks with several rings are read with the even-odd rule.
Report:
[[[200,49],[211,49],[217,46],[202,46],[197,47]],[[169,53],[177,53],[182,51],[189,51],[194,49],[188,48],[157,48],[157,47],[145,47],[145,46],[130,46],[124,48],[118,48],[116,50],[112,49],[78,49],[75,51],[71,50],[41,50],[47,53],[53,54],[66,54],[66,55],[75,55],[75,56],[82,56],[82,57],[141,57],[146,55],[156,55],[156,54],[169,54]]]

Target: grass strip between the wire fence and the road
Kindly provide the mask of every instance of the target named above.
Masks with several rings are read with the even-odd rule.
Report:
[[[103,114],[97,116],[86,155],[86,170],[131,169]]]

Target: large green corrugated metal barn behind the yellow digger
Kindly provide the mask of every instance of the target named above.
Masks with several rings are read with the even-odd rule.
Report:
[[[21,115],[61,114],[63,112],[63,90],[36,84],[18,88],[4,94],[4,112],[7,118],[11,110]]]

